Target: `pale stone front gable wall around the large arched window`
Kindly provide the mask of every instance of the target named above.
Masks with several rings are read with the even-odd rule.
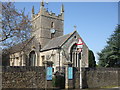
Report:
[[[70,49],[74,44],[78,42],[79,38],[81,37],[78,35],[78,33],[75,32],[75,34],[73,34],[71,38],[67,40],[66,43],[63,45],[62,51],[63,53],[65,52],[65,55],[64,55],[65,57],[63,57],[64,60],[70,59]],[[88,47],[85,43],[83,45],[82,55],[83,55],[82,56],[82,67],[88,67]]]

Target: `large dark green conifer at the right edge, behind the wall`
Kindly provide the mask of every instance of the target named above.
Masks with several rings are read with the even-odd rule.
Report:
[[[107,46],[98,53],[99,66],[120,67],[120,25],[108,38]]]

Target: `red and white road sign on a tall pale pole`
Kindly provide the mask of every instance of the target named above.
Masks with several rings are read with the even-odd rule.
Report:
[[[83,45],[84,45],[84,43],[83,43],[82,39],[79,39],[78,43],[77,43],[77,51],[79,53],[81,53],[81,60],[80,60],[80,89],[82,89],[82,69],[81,69],[81,67],[82,67],[82,48],[83,48]]]

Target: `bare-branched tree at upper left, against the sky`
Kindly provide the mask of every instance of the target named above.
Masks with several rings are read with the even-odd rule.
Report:
[[[23,42],[31,36],[31,23],[25,9],[18,11],[14,3],[2,3],[2,30],[0,30],[0,43],[3,47],[13,46]]]

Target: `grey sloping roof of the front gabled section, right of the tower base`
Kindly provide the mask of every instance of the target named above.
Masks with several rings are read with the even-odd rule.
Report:
[[[76,31],[74,31],[73,33],[67,34],[67,35],[63,35],[63,36],[60,36],[60,37],[53,38],[52,40],[50,40],[47,43],[47,45],[45,45],[41,49],[41,52],[61,47],[75,32]]]

